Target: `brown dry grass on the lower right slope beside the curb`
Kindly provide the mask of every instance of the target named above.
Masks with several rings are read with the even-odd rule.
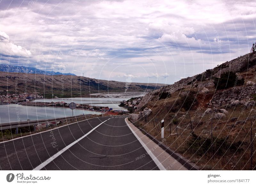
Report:
[[[175,97],[172,96],[167,104],[173,104],[174,100]],[[228,114],[225,118],[217,120],[209,114],[200,117],[205,108],[197,112],[196,110],[189,111],[190,118],[195,116],[192,128],[196,138],[193,138],[188,112],[181,109],[175,115],[168,107],[163,106],[164,101],[159,100],[157,104],[154,104],[153,101],[148,103],[147,106],[152,109],[152,114],[135,124],[161,140],[160,121],[164,119],[165,144],[203,170],[250,170],[250,129],[251,120],[252,123],[255,121],[255,112],[250,112],[251,109],[248,109],[241,113],[242,106],[230,108],[227,109]],[[182,115],[185,117],[182,118]],[[174,124],[174,120],[178,120],[177,125]],[[256,156],[255,132],[256,124],[253,124],[253,157]],[[208,146],[206,143],[209,143]],[[252,165],[255,169],[255,158]]]

